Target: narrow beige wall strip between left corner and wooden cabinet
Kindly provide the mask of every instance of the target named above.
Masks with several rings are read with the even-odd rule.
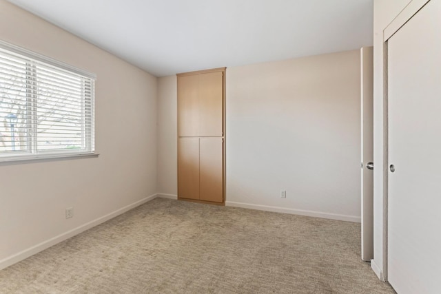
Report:
[[[178,193],[178,80],[158,78],[158,191],[176,198]]]

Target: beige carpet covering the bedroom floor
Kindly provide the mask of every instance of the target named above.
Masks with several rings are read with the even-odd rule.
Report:
[[[360,224],[155,199],[0,271],[1,293],[394,293]]]

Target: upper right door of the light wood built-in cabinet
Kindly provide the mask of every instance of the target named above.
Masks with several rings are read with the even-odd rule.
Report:
[[[223,136],[223,72],[199,74],[199,136]]]

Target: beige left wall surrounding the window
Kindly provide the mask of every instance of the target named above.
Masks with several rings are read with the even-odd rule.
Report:
[[[0,39],[96,74],[100,154],[0,166],[1,268],[156,193],[156,78],[3,0]]]

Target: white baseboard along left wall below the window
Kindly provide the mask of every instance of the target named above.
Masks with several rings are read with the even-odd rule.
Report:
[[[49,240],[46,240],[44,242],[41,242],[35,246],[32,246],[28,249],[25,249],[19,253],[16,253],[8,258],[4,258],[3,260],[0,260],[0,270],[5,269],[6,267],[20,262],[21,260],[24,260],[25,258],[28,258],[36,253],[39,253],[40,251],[43,251],[45,249],[48,249],[50,246],[54,246],[55,244],[58,244],[59,242],[62,242],[66,239],[69,239],[73,237],[74,235],[78,235],[79,233],[82,233],[83,231],[87,231],[88,229],[95,227],[99,224],[102,224],[103,222],[106,222],[107,220],[110,220],[116,216],[119,216],[122,213],[125,213],[126,211],[129,211],[130,209],[134,209],[135,207],[138,207],[141,204],[144,204],[145,202],[149,202],[150,200],[154,200],[158,194],[154,194],[152,196],[148,196],[144,199],[141,199],[139,201],[136,201],[132,204],[129,204],[121,209],[118,209],[116,211],[113,211],[111,213],[106,214],[105,216],[101,216],[101,218],[96,218],[96,220],[92,220],[90,222],[86,222],[85,224],[82,224],[79,227],[76,227],[75,229],[72,229],[70,231],[67,231],[65,233],[62,233],[60,235],[55,236],[54,238],[50,238]]]

